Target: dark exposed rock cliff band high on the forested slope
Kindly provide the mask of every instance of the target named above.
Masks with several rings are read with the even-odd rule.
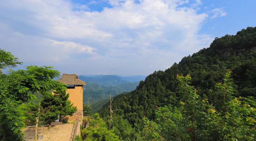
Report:
[[[218,55],[220,56],[240,56],[242,55],[245,51],[248,50],[256,50],[256,47],[252,47],[252,48],[242,48],[242,49],[234,49],[234,48],[221,48],[221,49],[217,49],[216,52],[218,53]]]

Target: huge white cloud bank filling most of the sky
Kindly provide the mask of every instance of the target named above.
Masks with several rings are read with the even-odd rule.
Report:
[[[108,2],[113,7],[98,12],[71,1],[0,1],[0,19],[8,27],[4,33],[9,32],[5,37],[0,33],[0,41],[11,45],[5,39],[13,38],[12,48],[20,44],[23,50],[31,52],[27,56],[30,60],[59,63],[79,60],[98,70],[120,66],[125,71],[130,65],[141,72],[153,65],[147,73],[172,65],[173,61],[178,62],[211,41],[209,35],[198,34],[208,17],[206,13],[198,14],[194,8],[201,4],[200,0],[194,4],[188,4],[187,0]],[[223,8],[211,12],[214,13],[211,18],[225,14]],[[95,67],[96,64],[99,66]]]

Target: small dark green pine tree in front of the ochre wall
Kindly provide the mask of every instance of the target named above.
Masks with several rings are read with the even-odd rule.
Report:
[[[44,109],[43,116],[48,120],[49,128],[51,121],[55,121],[62,116],[73,115],[77,111],[77,107],[73,107],[73,103],[68,100],[69,93],[66,94],[66,88],[59,88],[52,93],[43,93],[44,97],[41,101],[41,106]]]

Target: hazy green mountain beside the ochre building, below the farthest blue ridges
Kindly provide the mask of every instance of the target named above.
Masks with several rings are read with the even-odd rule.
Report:
[[[88,81],[83,89],[83,102],[89,105],[103,99],[109,98],[109,94],[113,96],[122,92],[131,92],[136,89],[139,82],[127,82],[116,86],[101,86],[94,82]]]

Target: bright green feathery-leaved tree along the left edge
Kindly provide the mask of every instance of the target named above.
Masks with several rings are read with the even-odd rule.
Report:
[[[9,52],[0,50],[1,69],[21,64],[18,58]],[[21,140],[21,129],[25,126],[21,104],[34,99],[35,92],[45,92],[63,87],[53,78],[60,72],[53,67],[27,66],[26,70],[10,70],[8,74],[0,74],[0,140]]]

